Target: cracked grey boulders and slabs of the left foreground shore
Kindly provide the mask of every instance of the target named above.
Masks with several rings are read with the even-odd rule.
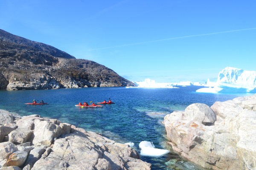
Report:
[[[0,170],[150,170],[132,147],[40,115],[0,110]]]

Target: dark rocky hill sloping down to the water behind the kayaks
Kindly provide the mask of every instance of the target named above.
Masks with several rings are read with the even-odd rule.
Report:
[[[0,29],[0,89],[120,86],[134,84],[104,65]]]

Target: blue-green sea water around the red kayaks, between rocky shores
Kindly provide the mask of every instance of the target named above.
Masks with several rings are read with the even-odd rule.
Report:
[[[226,101],[237,96],[252,94],[201,94],[201,87],[188,86],[175,89],[146,88],[79,88],[58,90],[0,91],[0,109],[22,116],[39,114],[59,119],[88,131],[102,133],[116,142],[134,142],[135,149],[141,141],[153,142],[156,148],[171,152],[158,158],[141,156],[152,164],[152,170],[191,170],[193,164],[172,152],[166,144],[166,130],[162,124],[166,114],[184,110],[192,103],[211,106],[216,101]],[[79,102],[102,102],[111,98],[115,104],[103,108],[75,107]],[[43,99],[49,105],[24,105],[33,99]]]

